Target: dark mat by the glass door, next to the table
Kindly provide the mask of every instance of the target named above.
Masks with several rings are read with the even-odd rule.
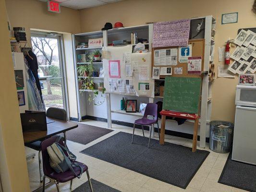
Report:
[[[67,139],[79,144],[88,144],[113,130],[78,123],[78,127],[66,132]]]

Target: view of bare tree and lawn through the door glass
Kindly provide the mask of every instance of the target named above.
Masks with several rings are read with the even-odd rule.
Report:
[[[47,77],[40,81],[47,108],[63,108],[61,70],[58,40],[46,37],[31,37],[33,52],[37,55],[38,76]]]

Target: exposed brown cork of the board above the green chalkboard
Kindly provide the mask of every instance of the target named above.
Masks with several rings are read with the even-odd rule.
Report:
[[[201,55],[194,54],[194,52],[195,52],[195,51],[193,52],[194,44],[201,44],[198,47],[200,49],[198,52],[201,52]],[[204,71],[205,39],[191,39],[191,40],[188,40],[188,45],[192,45],[192,57],[202,57],[201,71]],[[168,48],[178,48],[178,51],[179,51],[178,46],[152,48],[152,70],[151,70],[151,72],[153,72],[153,67],[171,67],[172,68],[172,74],[170,76],[173,76],[173,77],[202,77],[201,74],[188,74],[187,73],[187,63],[180,63],[179,62],[179,52],[178,52],[178,58],[177,58],[177,65],[168,65],[168,66],[166,66],[166,65],[157,65],[157,66],[155,66],[155,64],[154,64],[154,57],[155,57],[154,52],[155,52],[155,50],[168,49]],[[183,74],[174,74],[174,67],[183,67]],[[169,75],[167,75],[167,76],[169,76]],[[160,75],[160,79],[164,79],[164,78],[165,78],[165,75]]]

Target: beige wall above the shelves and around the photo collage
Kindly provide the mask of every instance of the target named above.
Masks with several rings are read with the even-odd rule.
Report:
[[[124,26],[146,22],[170,21],[213,15],[217,19],[215,44],[215,73],[217,76],[218,47],[229,37],[234,38],[239,28],[256,26],[256,15],[251,11],[254,0],[125,0],[80,11],[81,32],[101,30],[106,22],[122,22]],[[221,14],[238,12],[238,23],[221,25]],[[234,121],[235,79],[218,78],[212,87],[212,120]]]

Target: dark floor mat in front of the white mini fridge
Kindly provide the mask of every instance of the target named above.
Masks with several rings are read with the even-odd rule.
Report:
[[[256,192],[256,166],[233,161],[231,152],[218,182],[246,191]]]

